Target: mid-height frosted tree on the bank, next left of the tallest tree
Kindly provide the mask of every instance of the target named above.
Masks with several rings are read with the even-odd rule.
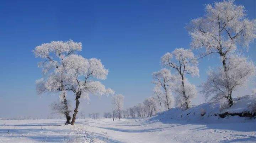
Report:
[[[167,52],[162,56],[161,62],[164,67],[174,69],[177,72],[177,75],[174,76],[178,81],[176,92],[179,93],[179,96],[182,96],[178,97],[178,99],[180,99],[179,104],[185,109],[188,109],[190,107],[191,98],[195,95],[191,92],[194,92],[195,89],[192,90],[193,86],[188,84],[185,75],[199,76],[197,59],[194,57],[193,52],[188,49],[176,48],[173,52]],[[193,95],[193,97],[191,95]]]

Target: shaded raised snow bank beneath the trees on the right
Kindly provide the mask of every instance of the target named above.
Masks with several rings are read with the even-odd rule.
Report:
[[[246,116],[248,113],[250,113],[251,116],[255,116],[256,95],[247,95],[234,98],[233,101],[233,106],[225,109],[220,108],[219,104],[214,104],[212,102],[207,102],[200,105],[192,105],[192,107],[187,110],[182,110],[178,107],[175,107],[168,111],[162,112],[156,118],[160,120],[171,118],[195,122],[255,121],[255,118],[241,118],[240,116]]]

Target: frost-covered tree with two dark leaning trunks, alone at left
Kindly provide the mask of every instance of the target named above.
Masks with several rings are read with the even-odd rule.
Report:
[[[102,96],[114,92],[110,88],[105,88],[100,81],[93,80],[105,80],[108,70],[104,68],[99,59],[86,59],[76,55],[75,52],[81,51],[81,49],[81,43],[70,40],[67,42],[53,41],[37,46],[33,50],[36,57],[44,59],[38,66],[43,69],[44,74],[47,74],[46,79],[36,81],[37,92],[60,91],[60,101],[64,106],[55,104],[54,107],[65,109],[66,124],[71,125],[74,125],[76,114],[78,113],[80,97],[89,99],[89,94]],[[67,90],[75,93],[76,106],[71,122],[69,105],[66,101]]]

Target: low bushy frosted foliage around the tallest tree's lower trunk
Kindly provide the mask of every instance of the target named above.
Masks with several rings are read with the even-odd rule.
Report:
[[[226,69],[228,71],[227,74],[222,67],[219,67],[217,71],[209,70],[208,79],[202,84],[201,91],[204,97],[213,96],[212,101],[219,102],[224,107],[225,103],[229,103],[230,97],[228,93],[232,93],[238,87],[246,86],[247,81],[252,76],[255,76],[254,63],[248,61],[244,56],[230,56],[226,60]]]

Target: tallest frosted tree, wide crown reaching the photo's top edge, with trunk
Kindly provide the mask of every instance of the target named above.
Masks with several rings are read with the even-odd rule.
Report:
[[[215,2],[206,5],[206,15],[193,19],[189,27],[191,46],[194,49],[205,48],[205,55],[217,53],[223,65],[224,85],[230,106],[233,105],[232,85],[229,83],[227,60],[238,45],[248,49],[256,38],[256,20],[246,18],[244,6],[235,5],[234,1]]]

